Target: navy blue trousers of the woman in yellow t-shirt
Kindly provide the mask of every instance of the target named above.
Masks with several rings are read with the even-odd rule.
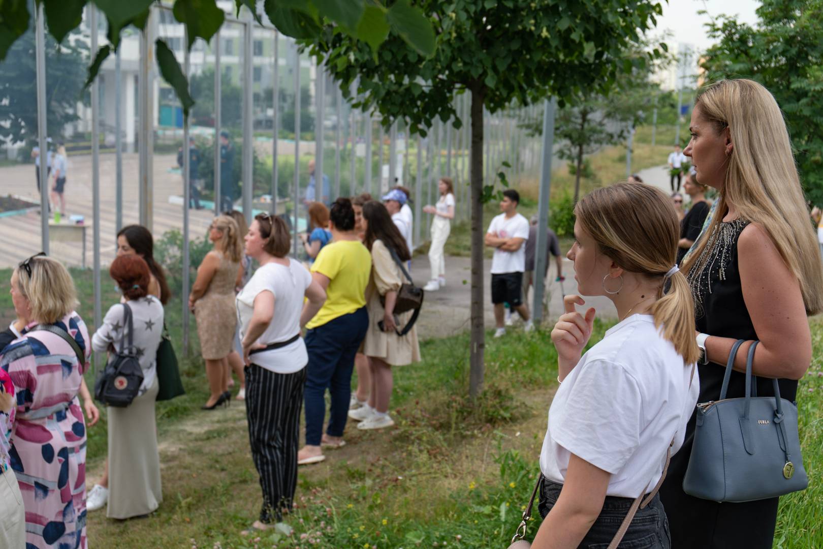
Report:
[[[369,329],[369,314],[365,307],[354,313],[344,314],[323,326],[306,332],[306,444],[319,446],[323,433],[326,402],[323,399],[328,388],[332,395],[329,407],[328,428],[330,436],[342,436],[346,428],[351,397],[351,371],[355,367],[355,355]]]

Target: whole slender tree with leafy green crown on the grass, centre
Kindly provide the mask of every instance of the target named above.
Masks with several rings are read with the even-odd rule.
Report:
[[[653,0],[417,0],[435,27],[435,53],[422,56],[389,31],[377,51],[331,27],[312,40],[346,97],[359,79],[356,104],[375,107],[384,124],[405,118],[425,135],[435,117],[463,124],[453,107],[457,93],[472,95],[472,358],[470,392],[483,371],[482,147],[483,107],[491,112],[517,102],[557,95],[562,105],[582,89],[610,86],[661,55],[620,58],[654,25],[662,8]]]

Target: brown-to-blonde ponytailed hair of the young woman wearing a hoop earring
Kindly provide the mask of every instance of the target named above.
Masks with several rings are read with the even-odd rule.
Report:
[[[650,308],[654,325],[663,330],[684,363],[697,361],[689,283],[682,272],[667,277],[677,258],[680,221],[666,193],[642,183],[614,184],[588,193],[574,207],[574,214],[602,254],[625,271],[659,281],[658,300]],[[664,294],[666,281],[670,284]]]

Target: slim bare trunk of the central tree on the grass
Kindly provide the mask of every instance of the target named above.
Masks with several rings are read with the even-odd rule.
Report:
[[[483,352],[486,332],[483,325],[483,91],[472,86],[472,347],[470,351],[469,396],[474,400],[483,386]]]

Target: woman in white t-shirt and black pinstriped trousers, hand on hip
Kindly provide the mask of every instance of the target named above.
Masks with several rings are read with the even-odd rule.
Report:
[[[252,528],[266,530],[292,508],[309,362],[300,330],[323,306],[326,292],[300,262],[288,257],[291,239],[280,217],[258,214],[244,240],[246,254],[260,264],[236,304],[249,443],[263,489],[263,507]]]

